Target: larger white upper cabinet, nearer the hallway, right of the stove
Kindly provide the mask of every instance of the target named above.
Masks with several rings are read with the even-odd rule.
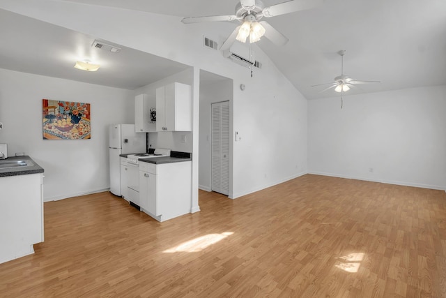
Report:
[[[191,87],[178,82],[156,89],[156,131],[192,131]]]

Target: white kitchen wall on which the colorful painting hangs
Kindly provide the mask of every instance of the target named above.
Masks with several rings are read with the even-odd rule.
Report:
[[[91,140],[43,140],[43,98],[90,103]],[[45,201],[108,190],[108,125],[134,123],[132,98],[128,90],[0,69],[0,143],[44,168]]]

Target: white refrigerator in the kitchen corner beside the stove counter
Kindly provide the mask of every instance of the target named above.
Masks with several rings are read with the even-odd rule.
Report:
[[[121,196],[119,154],[146,152],[146,133],[135,133],[134,124],[109,126],[110,193]]]

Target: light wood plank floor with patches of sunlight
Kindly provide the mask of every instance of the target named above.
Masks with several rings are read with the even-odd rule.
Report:
[[[307,174],[158,223],[109,193],[45,203],[0,297],[446,297],[446,193]]]

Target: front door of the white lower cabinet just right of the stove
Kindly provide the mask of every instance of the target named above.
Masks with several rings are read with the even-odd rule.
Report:
[[[158,216],[157,193],[156,193],[157,175],[148,172],[139,171],[139,204],[140,207],[149,213]]]

